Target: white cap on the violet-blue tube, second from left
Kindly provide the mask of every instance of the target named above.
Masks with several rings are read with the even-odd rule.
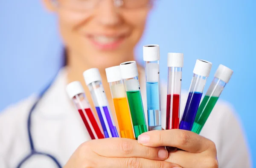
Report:
[[[97,68],[91,68],[89,70],[86,70],[84,71],[83,75],[86,85],[92,82],[102,81],[99,70]]]

